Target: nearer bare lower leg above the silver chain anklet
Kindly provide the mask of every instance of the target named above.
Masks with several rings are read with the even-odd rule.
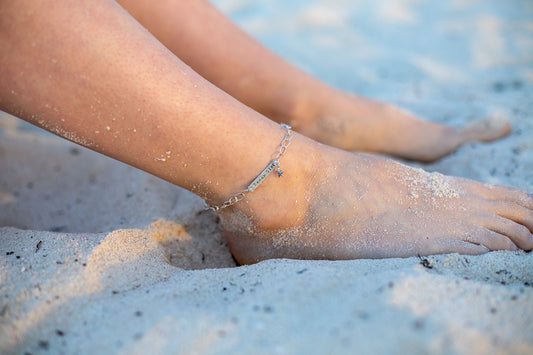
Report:
[[[113,1],[0,6],[0,109],[35,125],[212,203],[260,169],[282,134]]]

